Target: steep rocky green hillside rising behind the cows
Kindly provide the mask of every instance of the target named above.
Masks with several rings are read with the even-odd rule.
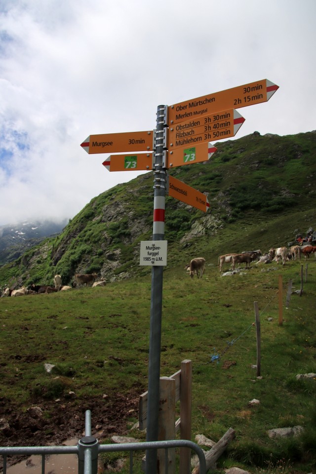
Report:
[[[206,163],[170,173],[208,195],[210,210],[166,197],[168,259],[196,252],[218,254],[287,245],[297,230],[316,228],[316,132],[279,137],[248,135],[216,144]],[[141,240],[153,232],[153,174],[118,185],[93,198],[56,238],[48,238],[0,267],[0,285],[49,284],[59,273],[96,272],[107,281],[146,275],[139,267]],[[296,231],[296,232],[295,232]],[[176,258],[176,257],[175,257]],[[179,261],[179,258],[177,258]]]

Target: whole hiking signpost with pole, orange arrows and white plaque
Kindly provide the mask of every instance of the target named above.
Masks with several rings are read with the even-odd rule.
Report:
[[[160,105],[155,140],[154,131],[143,131],[90,135],[81,143],[88,154],[126,153],[111,155],[103,162],[109,171],[154,170],[153,236],[141,242],[140,253],[140,265],[152,267],[147,441],[158,440],[162,275],[167,260],[165,196],[168,193],[203,212],[209,208],[206,195],[167,176],[167,169],[207,161],[216,151],[210,140],[235,136],[243,123],[244,118],[235,109],[267,102],[277,89],[276,84],[262,79],[169,107]],[[149,153],[152,150],[154,153]],[[157,449],[146,452],[146,474],[153,473],[157,473]]]

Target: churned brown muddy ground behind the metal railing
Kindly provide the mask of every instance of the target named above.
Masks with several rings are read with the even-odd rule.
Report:
[[[91,434],[99,442],[113,435],[126,435],[128,419],[138,417],[141,393],[135,390],[128,395],[112,394],[101,399],[65,398],[49,402],[37,399],[25,412],[14,401],[0,397],[0,446],[60,445],[67,439],[80,439],[85,434],[86,410],[91,411]],[[22,459],[10,456],[7,466]]]

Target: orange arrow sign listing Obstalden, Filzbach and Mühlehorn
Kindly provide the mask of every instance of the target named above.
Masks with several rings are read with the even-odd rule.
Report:
[[[237,110],[229,109],[172,124],[168,130],[168,150],[234,137],[244,121]]]

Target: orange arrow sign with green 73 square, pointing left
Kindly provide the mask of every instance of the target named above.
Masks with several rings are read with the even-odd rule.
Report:
[[[140,171],[153,169],[153,153],[110,155],[102,164],[109,171]]]

